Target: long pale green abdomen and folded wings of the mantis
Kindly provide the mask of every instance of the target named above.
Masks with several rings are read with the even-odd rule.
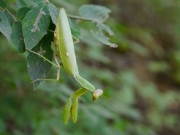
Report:
[[[66,12],[63,8],[60,9],[54,37],[56,51],[62,60],[65,70],[71,76],[74,76],[76,73],[79,74],[72,34]]]

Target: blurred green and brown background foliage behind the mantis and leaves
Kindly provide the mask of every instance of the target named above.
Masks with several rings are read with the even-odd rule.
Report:
[[[83,4],[112,10],[106,24],[118,48],[90,34],[90,22],[78,22],[83,37],[75,45],[84,78],[106,98],[80,98],[76,124],[64,125],[62,107],[80,86],[63,69],[60,83],[43,82],[36,91],[26,56],[0,35],[0,135],[179,135],[180,1],[50,0],[77,15]],[[8,8],[16,11],[15,3]],[[48,78],[56,77],[53,68]]]

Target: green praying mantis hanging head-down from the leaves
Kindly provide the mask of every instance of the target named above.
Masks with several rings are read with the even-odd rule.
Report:
[[[72,121],[75,123],[78,118],[78,98],[85,94],[88,90],[92,93],[92,100],[96,101],[102,94],[101,89],[95,89],[95,87],[84,79],[78,70],[78,65],[76,62],[76,55],[74,50],[73,36],[71,34],[68,18],[66,12],[63,8],[60,9],[58,20],[56,24],[56,29],[54,32],[54,44],[57,52],[57,56],[61,59],[64,69],[82,86],[80,89],[75,91],[66,102],[63,111],[62,117],[64,124],[68,123],[69,117],[71,116]],[[35,53],[50,62],[52,65],[58,68],[57,79],[59,80],[60,65],[55,57],[54,64],[42,55],[28,50],[32,53]],[[52,80],[52,79],[38,79],[38,80]]]

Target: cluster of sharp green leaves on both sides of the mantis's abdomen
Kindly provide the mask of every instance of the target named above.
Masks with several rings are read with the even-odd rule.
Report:
[[[20,5],[26,5],[18,9],[14,16],[7,8],[8,2],[1,0],[0,5],[0,31],[9,42],[15,45],[18,53],[22,54],[27,49],[32,50],[48,60],[52,61],[53,53],[52,42],[54,42],[53,31],[56,27],[59,9],[49,1],[29,0],[32,4],[19,1]],[[104,32],[112,36],[114,33],[104,22],[108,19],[110,9],[97,5],[83,5],[79,8],[80,16],[69,15],[69,24],[72,35],[81,37],[80,28],[76,20],[85,20],[95,23],[96,32],[91,30],[92,35],[101,43],[111,47],[117,47],[109,42],[109,38]],[[29,53],[27,56],[28,72],[34,86],[34,89],[41,83],[37,79],[46,78],[51,69],[51,64],[40,58],[38,55]]]

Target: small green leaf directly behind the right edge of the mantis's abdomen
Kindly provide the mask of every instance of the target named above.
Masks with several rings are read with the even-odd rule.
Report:
[[[81,32],[77,23],[74,21],[74,19],[70,19],[69,17],[68,17],[68,22],[71,28],[72,35],[79,38],[81,36]]]

